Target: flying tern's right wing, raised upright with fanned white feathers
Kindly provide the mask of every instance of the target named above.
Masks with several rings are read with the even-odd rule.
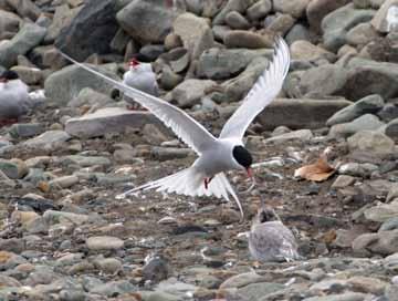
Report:
[[[259,115],[281,91],[290,66],[290,52],[289,46],[282,38],[275,40],[275,54],[269,66],[249,91],[241,106],[238,107],[224,124],[220,133],[220,138],[242,139],[255,116]]]

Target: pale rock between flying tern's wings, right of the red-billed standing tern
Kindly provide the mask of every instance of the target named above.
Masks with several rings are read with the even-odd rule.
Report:
[[[172,98],[177,101],[179,106],[191,107],[200,102],[206,91],[216,85],[210,80],[190,79],[184,81],[172,90]]]

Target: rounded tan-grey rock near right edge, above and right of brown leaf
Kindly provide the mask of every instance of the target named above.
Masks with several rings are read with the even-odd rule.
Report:
[[[348,146],[352,150],[357,149],[374,154],[394,153],[394,141],[379,132],[359,131],[348,138]]]

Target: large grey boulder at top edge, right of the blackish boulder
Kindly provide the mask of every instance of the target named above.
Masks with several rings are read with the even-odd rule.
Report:
[[[134,0],[116,15],[121,27],[143,44],[161,43],[176,17],[164,0]]]

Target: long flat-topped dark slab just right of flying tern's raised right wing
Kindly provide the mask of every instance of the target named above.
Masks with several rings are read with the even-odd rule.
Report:
[[[280,125],[290,128],[320,128],[337,111],[350,105],[345,100],[287,100],[276,98],[260,113],[258,121],[265,128]]]

